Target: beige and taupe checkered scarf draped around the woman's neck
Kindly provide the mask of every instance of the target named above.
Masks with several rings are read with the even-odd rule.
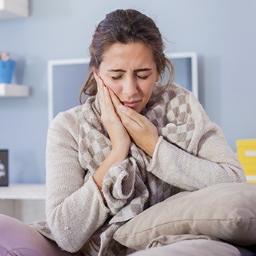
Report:
[[[100,120],[98,97],[89,97],[83,108],[83,117],[80,118],[86,122],[80,122],[83,123],[80,143],[84,143],[87,153],[80,157],[87,162],[88,170],[93,175],[110,153],[111,141]],[[142,114],[157,127],[159,136],[188,151],[195,131],[189,107],[189,92],[175,84],[157,84]],[[150,160],[142,149],[131,143],[126,160],[112,166],[104,177],[103,195],[112,218],[99,231],[99,255],[127,254],[127,248],[113,241],[114,231],[144,209],[181,191],[148,172]]]

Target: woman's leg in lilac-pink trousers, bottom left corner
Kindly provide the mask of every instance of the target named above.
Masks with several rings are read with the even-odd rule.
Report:
[[[71,256],[24,222],[0,214],[0,255]]]

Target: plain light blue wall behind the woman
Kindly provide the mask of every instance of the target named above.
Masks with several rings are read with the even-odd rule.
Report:
[[[0,148],[10,182],[44,182],[48,60],[87,57],[95,25],[116,8],[156,20],[167,51],[199,54],[199,100],[235,150],[256,137],[255,0],[31,0],[29,18],[0,21],[0,51],[18,61],[16,80],[31,97],[0,98]]]

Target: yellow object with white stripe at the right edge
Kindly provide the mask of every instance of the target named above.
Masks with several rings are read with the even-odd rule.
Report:
[[[256,182],[256,139],[238,139],[236,145],[248,182]]]

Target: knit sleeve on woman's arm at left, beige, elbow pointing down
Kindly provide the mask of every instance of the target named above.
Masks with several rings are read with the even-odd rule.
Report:
[[[54,240],[75,252],[106,221],[109,209],[94,179],[78,159],[77,113],[60,113],[48,130],[46,149],[46,215]]]

